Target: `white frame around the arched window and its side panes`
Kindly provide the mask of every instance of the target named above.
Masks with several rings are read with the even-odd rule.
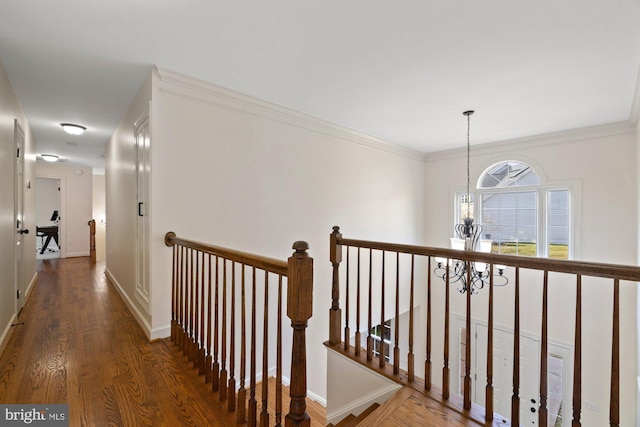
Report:
[[[478,188],[482,177],[489,171],[494,168],[496,165],[504,162],[521,162],[529,165],[539,176],[540,184],[539,185],[528,185],[528,186],[514,186],[514,187],[503,187],[503,188]],[[475,178],[475,179],[474,179]],[[579,179],[574,180],[559,180],[549,182],[546,180],[545,175],[542,169],[528,159],[521,158],[512,158],[510,157],[508,160],[500,159],[494,160],[486,163],[481,168],[480,172],[476,172],[471,177],[471,182],[475,183],[475,187],[470,189],[470,196],[472,201],[472,209],[474,211],[474,219],[477,224],[482,225],[482,194],[488,193],[516,193],[516,192],[525,192],[525,191],[535,191],[537,198],[537,222],[538,227],[536,230],[536,257],[540,258],[548,258],[549,257],[549,197],[552,191],[558,190],[566,190],[569,192],[569,205],[568,205],[568,221],[569,221],[569,248],[568,248],[568,258],[569,260],[577,259],[580,257],[580,230],[581,220],[579,212],[581,210],[581,194],[582,194],[582,181]],[[462,201],[462,197],[466,197],[467,191],[465,188],[457,187],[452,191],[452,197],[450,200],[453,201],[453,212],[450,218],[452,218],[453,223],[451,229],[454,228],[455,224],[459,224],[462,222],[462,215],[460,212],[460,203]],[[523,256],[523,255],[518,255]]]

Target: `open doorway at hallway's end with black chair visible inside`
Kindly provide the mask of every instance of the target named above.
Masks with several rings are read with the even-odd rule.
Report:
[[[36,259],[60,258],[60,179],[36,178]]]

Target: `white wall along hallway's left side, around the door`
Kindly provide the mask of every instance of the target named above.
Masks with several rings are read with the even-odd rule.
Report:
[[[0,63],[0,351],[17,316],[15,309],[15,217],[14,217],[14,121],[25,134],[24,212],[25,228],[30,234],[23,238],[23,278],[27,286],[35,283],[35,140],[31,128],[15,95],[13,86]],[[26,297],[26,295],[25,295]]]

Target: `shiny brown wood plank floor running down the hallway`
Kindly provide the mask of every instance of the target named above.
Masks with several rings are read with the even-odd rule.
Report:
[[[0,403],[67,403],[71,426],[235,425],[169,340],[147,341],[103,264],[42,260],[38,270],[0,356]],[[314,426],[323,411],[309,405]]]

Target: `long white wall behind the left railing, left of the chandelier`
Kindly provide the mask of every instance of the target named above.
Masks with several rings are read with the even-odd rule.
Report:
[[[167,231],[284,259],[306,240],[315,259],[308,385],[325,398],[331,228],[420,242],[421,156],[173,73],[153,87],[153,328],[170,321]]]

